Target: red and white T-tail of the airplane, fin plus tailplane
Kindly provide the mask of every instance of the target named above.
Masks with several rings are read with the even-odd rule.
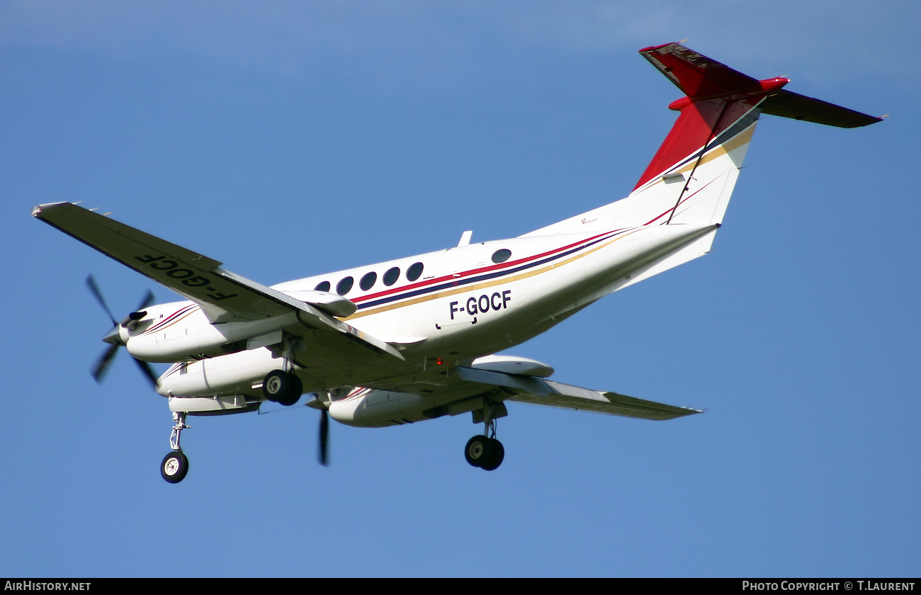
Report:
[[[680,112],[669,135],[628,197],[528,236],[651,225],[716,226],[723,220],[762,112],[847,128],[880,122],[791,93],[782,88],[787,78],[758,80],[679,43],[640,53],[685,95],[669,106]],[[703,247],[703,252],[708,249],[709,245]]]

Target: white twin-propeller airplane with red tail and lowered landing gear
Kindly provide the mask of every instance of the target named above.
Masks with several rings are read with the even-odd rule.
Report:
[[[553,368],[495,352],[529,340],[596,299],[710,250],[759,114],[852,128],[879,122],[757,80],[678,43],[640,50],[685,97],[665,142],[623,200],[519,238],[471,244],[267,287],[221,262],[76,204],[42,204],[39,217],[189,301],[141,306],[116,323],[94,376],[118,346],[168,398],[174,425],[160,472],[189,461],[186,415],[239,414],[304,392],[349,426],[411,424],[472,414],[484,434],[464,449],[474,467],[505,456],[495,420],[506,402],[671,419],[700,413],[546,379]],[[90,287],[105,307],[99,290]],[[108,308],[106,307],[108,310]],[[111,317],[111,314],[110,314]],[[146,362],[171,367],[155,379]]]

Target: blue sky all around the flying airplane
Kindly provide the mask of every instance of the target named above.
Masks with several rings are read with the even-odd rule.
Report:
[[[917,576],[921,414],[913,2],[0,3],[7,279],[0,574]],[[197,418],[105,315],[148,287],[29,218],[83,201],[262,283],[517,236],[621,198],[687,45],[872,114],[764,118],[703,259],[509,353],[554,379],[707,411],[653,423],[509,406],[389,429]],[[466,204],[460,211],[446,204]]]

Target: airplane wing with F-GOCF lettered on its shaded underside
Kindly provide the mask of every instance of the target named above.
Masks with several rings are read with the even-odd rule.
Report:
[[[225,271],[221,262],[76,204],[41,204],[32,210],[32,216],[191,299],[213,324],[255,321],[294,311],[299,321],[321,337],[321,347],[342,350],[347,355],[357,345],[389,354],[388,358],[403,359],[391,345],[322,311],[323,304],[312,305],[286,296]]]

